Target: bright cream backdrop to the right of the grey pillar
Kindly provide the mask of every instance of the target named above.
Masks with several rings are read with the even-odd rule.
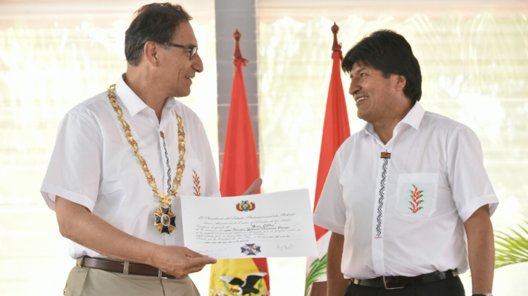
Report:
[[[298,19],[280,17],[269,22],[265,18],[259,23],[260,169],[264,191],[308,187],[313,199],[332,67],[333,21],[322,16]],[[495,228],[504,230],[526,219],[527,15],[476,13],[466,18],[448,13],[429,18],[415,14],[372,20],[351,15],[337,25],[344,53],[375,30],[396,30],[406,37],[422,69],[422,105],[468,125],[482,142],[486,171],[501,200],[493,217]],[[341,78],[346,97],[351,98],[350,79],[344,74]],[[364,122],[357,118],[353,100],[347,103],[351,132],[357,132]],[[274,264],[280,268],[272,268]],[[270,265],[270,278],[282,278],[280,283],[272,282],[274,290],[280,291],[284,283],[284,288],[286,284],[296,287],[292,295],[301,295],[303,275],[299,273],[305,266],[274,259]],[[525,285],[518,285],[519,273],[525,274],[527,268],[520,264],[498,269],[494,292],[528,292]],[[471,295],[470,278],[462,278]]]

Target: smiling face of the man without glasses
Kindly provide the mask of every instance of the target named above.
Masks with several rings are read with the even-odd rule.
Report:
[[[375,123],[391,117],[400,97],[396,87],[398,75],[390,75],[386,78],[381,70],[362,63],[354,63],[350,77],[348,92],[356,101],[358,118]]]

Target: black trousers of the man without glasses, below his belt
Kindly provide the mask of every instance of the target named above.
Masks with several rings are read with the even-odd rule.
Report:
[[[425,285],[396,290],[348,285],[344,296],[465,296],[464,286],[458,276]]]

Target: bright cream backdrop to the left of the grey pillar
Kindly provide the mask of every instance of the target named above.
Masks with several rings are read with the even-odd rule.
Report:
[[[0,295],[62,295],[75,262],[40,185],[65,113],[125,72],[125,30],[146,4],[40,2],[0,4]],[[181,101],[203,121],[218,168],[214,2],[187,2],[205,70]],[[204,295],[208,280],[197,279]]]

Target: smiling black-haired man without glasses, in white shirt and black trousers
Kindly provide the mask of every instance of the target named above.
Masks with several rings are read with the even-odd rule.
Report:
[[[328,295],[463,296],[470,267],[474,295],[491,293],[498,199],[477,136],[424,111],[420,65],[396,32],[365,37],[342,68],[367,123],[337,151],[315,210],[332,231]]]

